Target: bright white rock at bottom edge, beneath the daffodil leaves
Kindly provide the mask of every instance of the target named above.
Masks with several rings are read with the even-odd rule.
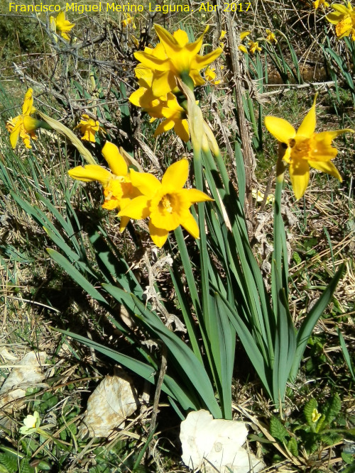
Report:
[[[181,423],[182,462],[194,472],[259,472],[264,464],[242,447],[248,430],[244,422],[214,419],[208,411],[194,411]]]

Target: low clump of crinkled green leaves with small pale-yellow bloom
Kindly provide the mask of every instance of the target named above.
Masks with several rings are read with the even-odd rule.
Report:
[[[270,433],[292,455],[297,457],[300,450],[312,455],[325,446],[339,443],[344,438],[344,430],[338,428],[337,419],[342,408],[339,394],[332,396],[318,411],[318,402],[312,398],[303,408],[304,421],[282,423],[273,416],[270,421]]]

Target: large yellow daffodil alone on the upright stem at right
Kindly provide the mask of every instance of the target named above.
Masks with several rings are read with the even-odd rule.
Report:
[[[290,179],[295,198],[300,199],[310,180],[310,167],[331,174],[342,182],[338,169],[331,160],[337,156],[337,149],[332,147],[332,140],[347,131],[331,130],[315,133],[315,100],[310,111],[302,121],[297,132],[288,121],[275,116],[265,117],[265,126],[285,149],[283,160],[290,165]]]

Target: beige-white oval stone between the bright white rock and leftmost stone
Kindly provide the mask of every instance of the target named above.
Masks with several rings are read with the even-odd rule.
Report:
[[[82,437],[109,437],[116,429],[123,429],[126,418],[138,407],[132,380],[123,370],[119,375],[107,376],[87,401],[79,433]]]

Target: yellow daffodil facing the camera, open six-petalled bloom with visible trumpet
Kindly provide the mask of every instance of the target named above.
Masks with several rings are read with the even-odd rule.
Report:
[[[131,169],[131,182],[143,195],[133,199],[119,212],[119,216],[138,220],[149,217],[149,232],[158,247],[162,247],[168,233],[180,225],[194,238],[199,238],[200,231],[190,213],[190,206],[213,199],[197,189],[182,189],[188,172],[189,165],[185,159],[168,167],[161,182],[153,174]]]

